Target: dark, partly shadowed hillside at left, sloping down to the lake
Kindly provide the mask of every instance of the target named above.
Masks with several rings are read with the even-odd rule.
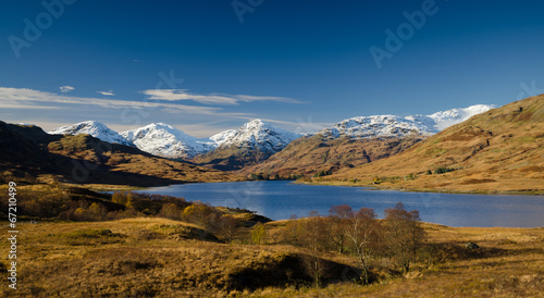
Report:
[[[89,135],[49,135],[37,126],[0,122],[0,173],[29,182],[152,186],[237,181],[238,176],[158,158]]]

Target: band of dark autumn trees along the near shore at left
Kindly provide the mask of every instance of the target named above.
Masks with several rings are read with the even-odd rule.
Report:
[[[8,210],[8,198],[3,198],[5,194],[0,194],[0,213],[2,213],[1,210]],[[107,195],[55,184],[44,189],[21,193],[17,198],[17,214],[30,219],[81,222],[160,216],[194,223],[226,243],[235,238],[240,238],[242,243],[251,243],[247,223],[228,214],[231,212],[200,201],[187,202],[183,198],[172,196],[134,191],[116,191]],[[238,211],[249,213],[246,210]],[[259,239],[259,243],[264,243],[264,237]]]

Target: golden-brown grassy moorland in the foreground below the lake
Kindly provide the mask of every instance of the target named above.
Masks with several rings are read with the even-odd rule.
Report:
[[[274,229],[281,223],[267,225]],[[324,254],[339,266],[330,280],[339,282],[320,289],[296,289],[284,287],[293,278],[304,276],[298,271],[298,249],[290,246],[203,241],[195,234],[184,234],[198,227],[163,219],[26,223],[20,224],[17,294],[511,297],[537,296],[544,290],[543,228],[454,228],[435,224],[424,227],[433,243],[462,247],[474,241],[482,248],[468,254],[463,249],[454,249],[444,254],[442,262],[416,265],[404,278],[367,287],[342,282],[343,271],[354,264],[350,258]],[[8,256],[5,237],[0,240],[0,253]],[[5,266],[4,258],[1,262]],[[0,288],[4,295],[9,290],[7,286]]]

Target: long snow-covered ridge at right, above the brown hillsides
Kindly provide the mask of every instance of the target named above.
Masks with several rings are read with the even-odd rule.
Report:
[[[477,104],[468,108],[452,109],[431,115],[373,115],[357,116],[341,121],[319,134],[337,138],[404,137],[407,135],[429,136],[441,132],[471,116],[494,109],[495,105]]]

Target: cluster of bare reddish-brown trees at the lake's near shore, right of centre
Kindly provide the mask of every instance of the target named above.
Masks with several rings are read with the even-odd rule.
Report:
[[[284,235],[286,243],[307,249],[317,283],[322,272],[319,257],[322,252],[356,257],[361,282],[368,284],[371,260],[387,258],[406,272],[425,238],[419,212],[407,211],[400,202],[385,210],[384,220],[379,220],[373,209],[354,211],[346,204],[334,206],[329,212],[329,216],[322,216],[312,211],[308,218],[293,221]]]

